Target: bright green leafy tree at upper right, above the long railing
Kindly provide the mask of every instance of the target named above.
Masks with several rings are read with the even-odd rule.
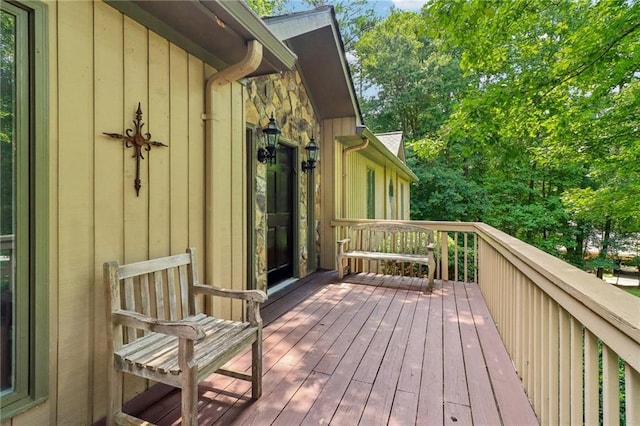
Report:
[[[545,249],[589,227],[637,230],[640,4],[435,0],[423,11],[473,82],[439,137],[490,162],[483,186],[504,211],[487,221],[516,223],[510,232]]]

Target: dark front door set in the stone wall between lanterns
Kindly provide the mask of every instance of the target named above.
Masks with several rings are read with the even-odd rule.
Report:
[[[267,285],[293,276],[294,149],[280,145],[267,166]]]

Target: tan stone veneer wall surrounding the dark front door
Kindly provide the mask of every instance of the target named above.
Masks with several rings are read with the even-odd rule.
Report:
[[[268,122],[269,117],[273,114],[278,127],[282,130],[280,135],[281,139],[286,140],[289,143],[299,146],[301,158],[306,157],[305,145],[309,142],[312,134],[316,138],[316,142],[319,144],[321,140],[320,125],[316,117],[315,111],[311,105],[311,101],[307,95],[306,89],[302,84],[302,78],[297,70],[285,72],[282,75],[268,75],[264,77],[251,78],[247,84],[247,99],[246,99],[246,111],[247,122],[256,125],[259,129],[264,128]],[[258,130],[258,133],[261,133]],[[258,137],[262,137],[260,134]],[[259,146],[262,142],[260,141]],[[322,147],[321,147],[322,149]],[[256,232],[256,288],[266,289],[267,286],[267,253],[266,253],[266,165],[257,162],[256,170],[256,211],[255,211],[255,232]],[[320,217],[320,164],[316,164],[315,173],[315,185],[313,191],[315,192],[315,217]],[[307,275],[307,264],[309,253],[307,253],[308,244],[308,229],[307,217],[309,206],[308,200],[308,179],[307,173],[302,173],[300,165],[298,164],[298,246],[300,248],[298,253],[299,272],[300,276]],[[316,253],[311,255],[317,258],[319,252],[319,230],[318,221],[313,224],[315,229],[314,238]],[[313,264],[316,262],[314,261]]]

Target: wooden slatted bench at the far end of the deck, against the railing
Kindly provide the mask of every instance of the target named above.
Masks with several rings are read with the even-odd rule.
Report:
[[[436,262],[431,229],[397,222],[368,222],[353,225],[348,232],[348,238],[338,241],[339,279],[344,276],[345,259],[408,262],[427,266],[428,288],[433,288]]]

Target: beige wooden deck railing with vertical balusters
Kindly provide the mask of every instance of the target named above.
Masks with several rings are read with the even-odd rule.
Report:
[[[482,223],[410,223],[437,278],[478,283],[541,424],[640,424],[640,299]]]

